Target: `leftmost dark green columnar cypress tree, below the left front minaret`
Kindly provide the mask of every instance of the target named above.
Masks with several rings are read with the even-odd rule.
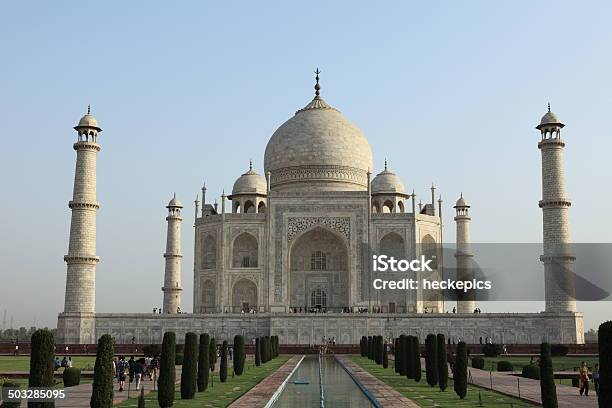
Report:
[[[53,333],[46,329],[38,329],[32,334],[30,339],[30,376],[28,387],[53,387]],[[111,357],[112,359],[112,357]],[[112,384],[111,402],[112,405]],[[54,407],[54,402],[33,402],[28,401],[28,407],[50,408]]]

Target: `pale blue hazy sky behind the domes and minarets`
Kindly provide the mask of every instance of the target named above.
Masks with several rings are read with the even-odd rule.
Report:
[[[222,4],[223,3],[223,4]],[[98,162],[97,310],[161,305],[165,205],[262,172],[274,130],[322,96],[423,200],[432,181],[472,204],[475,242],[541,241],[539,133],[566,127],[577,242],[612,242],[609,2],[7,2],[0,12],[0,313],[55,326],[63,309],[75,153],[92,105]],[[534,276],[542,279],[542,276]],[[541,310],[511,304],[501,310]],[[487,307],[483,307],[487,310]],[[489,310],[493,309],[490,307]],[[496,310],[499,310],[496,309]],[[580,304],[587,328],[609,303]],[[1,318],[1,316],[0,316]]]

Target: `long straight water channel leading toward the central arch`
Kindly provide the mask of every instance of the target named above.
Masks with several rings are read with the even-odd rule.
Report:
[[[373,406],[334,357],[309,355],[289,378],[273,408]]]

